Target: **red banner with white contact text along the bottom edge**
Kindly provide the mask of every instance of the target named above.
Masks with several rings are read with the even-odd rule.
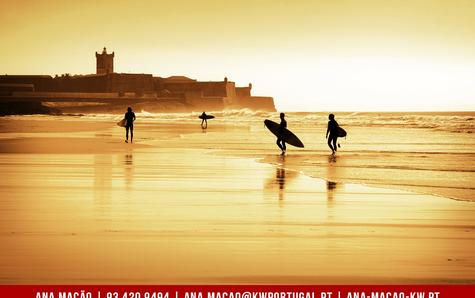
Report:
[[[1,298],[463,298],[475,285],[0,286]]]

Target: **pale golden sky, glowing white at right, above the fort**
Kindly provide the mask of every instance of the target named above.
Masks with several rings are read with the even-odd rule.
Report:
[[[475,1],[2,0],[0,73],[226,76],[281,111],[474,111]]]

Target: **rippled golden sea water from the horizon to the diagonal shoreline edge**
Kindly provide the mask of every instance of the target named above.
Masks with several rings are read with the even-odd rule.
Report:
[[[263,125],[266,118],[278,121],[278,113],[250,110],[209,113],[217,118],[209,121],[206,131],[201,131],[201,120],[198,119],[201,112],[137,112],[136,141],[162,141],[168,142],[167,146],[174,146],[172,139],[181,134],[192,148],[226,150],[264,162],[272,162],[279,153],[274,136]],[[327,174],[330,151],[324,138],[327,113],[287,113],[286,117],[289,129],[305,144],[304,149],[289,146],[288,168],[332,181],[408,189],[475,201],[475,138],[472,134],[475,112],[337,113],[336,119],[347,130],[348,136],[339,139],[341,148],[336,162],[332,163],[336,170],[331,177]],[[112,127],[112,132],[107,132],[105,137],[112,134],[120,137],[122,132],[114,127],[114,123],[121,118],[122,115],[90,114],[10,116],[4,119],[47,120],[58,123],[59,127],[71,120],[94,121],[101,125],[101,129],[107,130],[105,125]],[[182,123],[186,129],[176,131],[175,123]],[[170,129],[164,138],[167,126]],[[5,127],[0,127],[0,130],[4,131]],[[28,136],[27,130],[22,134]]]

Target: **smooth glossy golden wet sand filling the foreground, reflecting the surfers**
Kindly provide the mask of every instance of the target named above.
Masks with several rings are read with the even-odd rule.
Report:
[[[0,136],[0,283],[475,283],[473,202],[222,154],[243,127],[78,126]]]

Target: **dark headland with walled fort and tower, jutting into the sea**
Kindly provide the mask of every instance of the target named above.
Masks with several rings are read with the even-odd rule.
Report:
[[[115,53],[96,52],[96,73],[88,75],[1,75],[0,115],[122,112],[124,106],[150,112],[242,109],[275,111],[272,97],[252,96],[252,84],[201,82],[185,76],[115,73]]]

